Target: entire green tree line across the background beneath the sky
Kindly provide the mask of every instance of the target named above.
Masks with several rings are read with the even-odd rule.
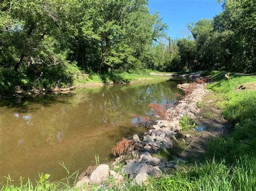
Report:
[[[252,0],[226,0],[212,20],[171,39],[147,0],[0,0],[0,90],[63,86],[84,73],[255,71]]]

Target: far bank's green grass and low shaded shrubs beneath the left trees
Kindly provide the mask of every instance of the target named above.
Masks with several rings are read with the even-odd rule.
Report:
[[[111,70],[109,73],[86,73],[76,66],[65,70],[44,71],[37,79],[27,75],[28,72],[14,73],[0,68],[0,95],[12,95],[33,89],[58,89],[71,86],[99,86],[102,84],[143,83],[164,80],[164,76],[150,75],[153,70],[121,72]]]

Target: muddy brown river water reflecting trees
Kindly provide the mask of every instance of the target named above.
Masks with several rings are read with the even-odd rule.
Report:
[[[142,134],[134,127],[138,117],[153,116],[149,103],[176,102],[174,94],[184,80],[153,84],[79,89],[75,94],[44,95],[0,100],[0,182],[10,174],[38,179],[38,172],[51,180],[65,178],[64,162],[70,172],[83,171],[113,159],[111,148],[123,137]]]

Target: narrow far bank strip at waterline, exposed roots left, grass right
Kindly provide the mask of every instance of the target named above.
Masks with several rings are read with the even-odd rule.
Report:
[[[0,97],[15,97],[15,96],[32,96],[32,95],[44,95],[44,94],[69,94],[76,89],[91,88],[99,86],[113,86],[115,84],[142,84],[151,82],[161,82],[168,80],[168,76],[154,76],[151,75],[152,70],[144,70],[140,73],[111,73],[107,75],[99,74],[82,74],[80,73],[76,80],[71,84],[65,84],[64,87],[55,88],[51,86],[43,87],[42,84],[33,86],[33,84],[21,84],[15,87],[9,87],[0,91]],[[1,87],[0,90],[4,89]]]

